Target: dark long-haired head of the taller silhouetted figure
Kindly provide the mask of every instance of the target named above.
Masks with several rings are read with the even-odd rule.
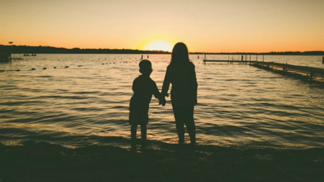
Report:
[[[187,63],[189,61],[190,60],[189,60],[187,45],[182,42],[176,43],[172,50],[170,64],[179,65],[179,64]]]

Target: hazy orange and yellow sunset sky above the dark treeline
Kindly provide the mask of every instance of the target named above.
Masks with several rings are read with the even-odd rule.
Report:
[[[324,51],[323,0],[0,0],[0,44],[190,52]]]

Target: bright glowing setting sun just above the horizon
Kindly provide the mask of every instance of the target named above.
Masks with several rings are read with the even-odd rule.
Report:
[[[148,51],[168,51],[171,52],[173,47],[173,43],[163,39],[153,39],[143,43],[143,45],[139,46],[140,50],[148,50]]]

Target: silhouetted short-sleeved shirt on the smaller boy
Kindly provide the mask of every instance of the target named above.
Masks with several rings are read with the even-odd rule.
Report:
[[[152,95],[159,97],[156,83],[149,77],[140,75],[133,82],[134,95],[131,98],[130,110],[138,114],[147,114]]]

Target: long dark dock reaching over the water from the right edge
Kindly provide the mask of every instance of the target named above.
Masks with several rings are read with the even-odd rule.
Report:
[[[206,62],[217,62],[217,63],[241,63],[241,64],[250,64],[258,68],[265,70],[277,70],[281,72],[293,72],[300,74],[302,76],[309,77],[310,80],[314,78],[324,79],[324,69],[315,68],[309,66],[297,66],[284,63],[275,63],[275,62],[264,62],[264,61],[237,61],[237,60],[203,60]]]

